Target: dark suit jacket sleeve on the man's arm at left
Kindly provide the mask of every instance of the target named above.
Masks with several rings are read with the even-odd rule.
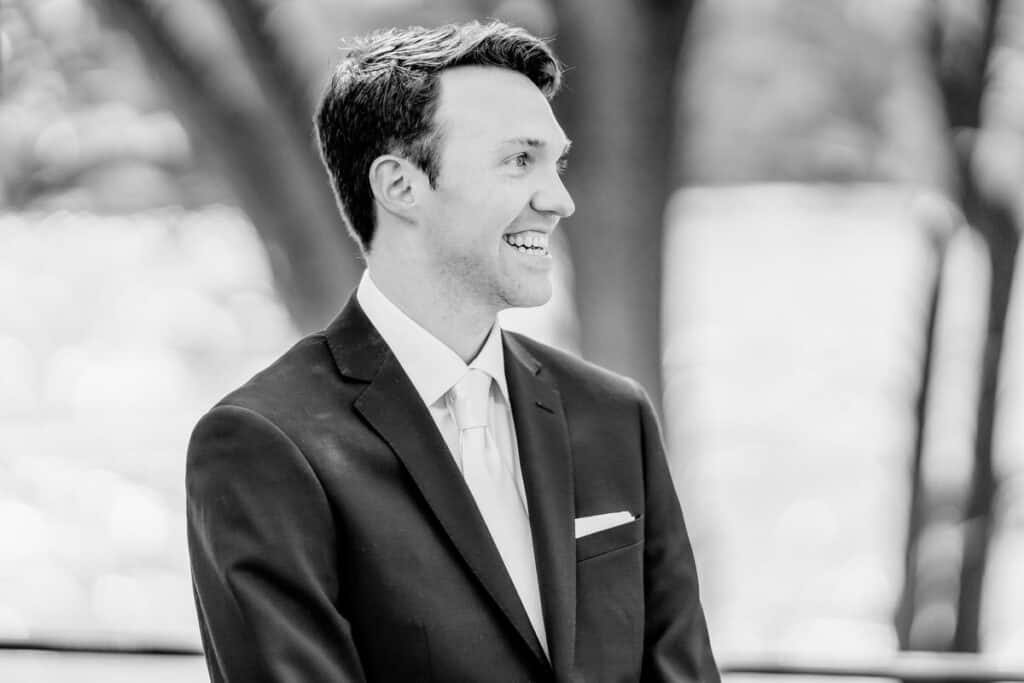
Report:
[[[365,680],[327,498],[296,444],[261,415],[219,405],[185,472],[188,553],[213,683]]]

